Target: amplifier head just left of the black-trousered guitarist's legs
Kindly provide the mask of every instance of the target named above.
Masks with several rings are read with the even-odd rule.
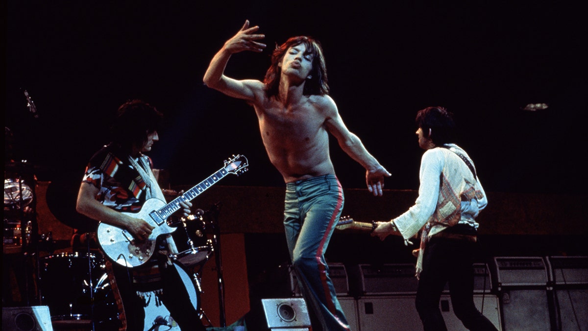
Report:
[[[363,294],[414,294],[415,264],[359,264]]]

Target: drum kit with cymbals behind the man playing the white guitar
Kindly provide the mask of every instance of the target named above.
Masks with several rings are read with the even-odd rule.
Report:
[[[36,115],[32,100],[27,93],[25,95],[29,110],[35,110],[31,112]],[[37,181],[35,167],[26,160],[12,160],[12,132],[8,127],[5,127],[5,160],[2,306],[48,306],[54,327],[62,325],[71,329],[76,325],[92,330],[118,329],[119,307],[105,256],[90,244],[81,250],[58,245],[61,249],[55,250],[52,231],[39,233],[39,229],[48,228],[72,229],[72,233],[73,227],[69,219],[59,219],[57,223],[60,224],[55,227],[43,224],[49,220],[45,219],[44,210],[38,210],[38,203],[48,202],[49,194],[45,196],[48,191],[37,190],[41,182]],[[208,239],[207,227],[215,229],[218,213],[205,215],[201,211],[175,220],[178,229],[172,237],[178,253],[169,258],[181,276],[195,310],[202,317],[205,315],[199,300],[202,293],[200,275],[203,265],[217,250],[216,235],[212,240]],[[59,239],[67,239],[61,241],[71,245],[71,237]],[[156,291],[143,294],[145,330],[158,330],[160,326],[166,326],[165,330],[179,330],[169,312],[155,299]],[[149,297],[153,299],[149,300]]]

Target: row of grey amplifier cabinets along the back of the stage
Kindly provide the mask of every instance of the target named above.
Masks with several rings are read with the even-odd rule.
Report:
[[[415,265],[329,264],[352,330],[421,329]],[[290,292],[300,297],[296,275]],[[588,257],[493,257],[474,264],[474,303],[498,330],[583,330],[588,325]],[[447,329],[466,330],[453,313],[449,288],[440,310]]]

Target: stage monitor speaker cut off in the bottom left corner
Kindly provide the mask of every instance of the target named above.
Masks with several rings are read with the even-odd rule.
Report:
[[[2,329],[10,331],[53,331],[49,307],[2,307]]]

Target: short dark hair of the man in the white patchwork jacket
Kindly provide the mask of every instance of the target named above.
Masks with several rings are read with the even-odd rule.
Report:
[[[443,107],[427,107],[416,113],[416,125],[422,128],[423,134],[429,133],[435,145],[455,143],[456,125],[453,114]]]

